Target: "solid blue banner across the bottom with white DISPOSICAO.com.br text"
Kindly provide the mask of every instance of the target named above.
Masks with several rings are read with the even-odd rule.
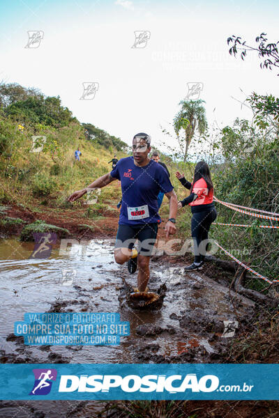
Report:
[[[3,400],[278,400],[279,364],[2,364]]]

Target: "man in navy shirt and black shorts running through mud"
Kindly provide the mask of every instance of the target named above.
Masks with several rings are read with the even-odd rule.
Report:
[[[169,199],[166,236],[176,232],[177,197],[165,169],[148,157],[150,142],[149,135],[143,132],[136,134],[133,138],[133,157],[121,158],[114,170],[89,185],[90,188],[105,187],[114,180],[121,180],[123,197],[114,259],[118,264],[128,261],[130,273],[135,272],[138,266],[135,292],[146,292],[149,281],[150,256],[161,222],[157,201],[160,191]],[[68,197],[68,201],[76,201],[84,194],[86,189],[78,190]],[[133,248],[136,240],[138,251]]]

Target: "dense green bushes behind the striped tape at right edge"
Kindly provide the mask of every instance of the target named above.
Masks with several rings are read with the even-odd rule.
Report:
[[[236,119],[232,127],[220,132],[216,146],[223,162],[212,165],[218,199],[279,213],[279,112],[271,106],[277,100],[253,93],[248,98],[255,114],[253,121]],[[227,249],[248,249],[250,256],[238,258],[264,276],[278,279],[278,229],[259,228],[259,225],[279,226],[278,222],[235,212],[219,204],[218,212],[218,222],[249,225],[216,226],[213,235],[220,245]],[[264,281],[252,279],[251,286],[264,286]]]

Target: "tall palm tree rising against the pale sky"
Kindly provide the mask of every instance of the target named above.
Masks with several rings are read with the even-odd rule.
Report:
[[[174,117],[174,131],[179,141],[179,146],[183,150],[183,161],[186,162],[188,148],[194,137],[197,128],[199,135],[202,135],[207,128],[205,109],[202,103],[204,100],[181,100],[181,109]],[[185,132],[185,138],[179,138],[181,129]]]

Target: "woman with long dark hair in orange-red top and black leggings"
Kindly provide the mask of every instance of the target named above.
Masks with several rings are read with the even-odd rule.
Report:
[[[181,185],[190,189],[190,195],[179,201],[179,208],[186,205],[191,206],[193,217],[191,220],[191,233],[194,240],[195,260],[185,270],[201,270],[208,244],[209,228],[217,217],[213,203],[213,183],[209,166],[205,161],[199,161],[195,167],[193,183],[184,177],[184,174],[176,171],[176,177]]]

